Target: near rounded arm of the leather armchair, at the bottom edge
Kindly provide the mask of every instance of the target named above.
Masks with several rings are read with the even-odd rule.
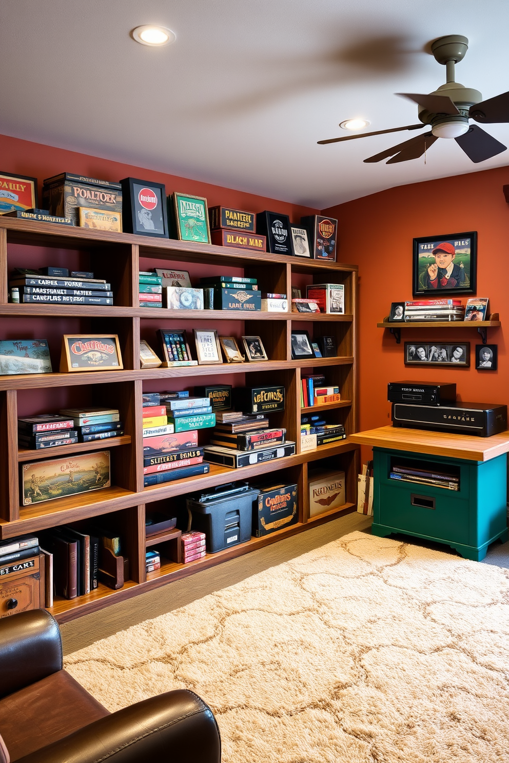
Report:
[[[192,691],[159,694],[84,726],[16,763],[220,763],[211,709]]]

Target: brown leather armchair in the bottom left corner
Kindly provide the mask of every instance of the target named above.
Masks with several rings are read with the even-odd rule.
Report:
[[[108,713],[62,669],[60,631],[46,610],[0,620],[0,735],[0,763],[221,761],[214,715],[192,691]]]

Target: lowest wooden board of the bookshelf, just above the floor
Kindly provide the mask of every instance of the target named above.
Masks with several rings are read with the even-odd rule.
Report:
[[[124,588],[120,588],[118,591],[112,591],[99,584],[97,591],[94,591],[92,594],[85,594],[85,596],[71,600],[59,599],[49,611],[56,617],[59,623],[69,622],[69,620],[74,620],[76,617],[82,617],[84,614],[101,610],[109,604],[116,604],[118,601],[130,599],[145,591],[152,591],[154,588],[159,588],[171,581],[187,578],[189,575],[194,575],[195,572],[215,567],[222,562],[227,562],[228,559],[235,559],[238,556],[256,551],[256,549],[269,546],[281,539],[297,535],[304,530],[308,530],[309,527],[330,522],[333,519],[337,519],[337,517],[352,513],[355,508],[354,504],[345,504],[343,507],[321,514],[319,517],[312,517],[307,523],[297,523],[286,530],[276,530],[275,533],[263,536],[262,538],[251,538],[246,543],[240,543],[237,546],[218,551],[215,554],[206,554],[202,559],[188,562],[185,565],[166,561],[159,570],[147,574],[147,581],[145,583],[136,584],[128,581],[124,584]]]

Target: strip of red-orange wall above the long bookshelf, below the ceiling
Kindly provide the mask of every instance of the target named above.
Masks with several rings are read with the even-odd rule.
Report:
[[[0,169],[3,172],[19,172],[21,175],[37,178],[39,198],[41,198],[43,179],[60,172],[75,172],[101,180],[118,181],[127,177],[153,180],[164,183],[167,194],[179,191],[205,196],[209,207],[223,204],[226,207],[246,209],[250,212],[270,209],[289,214],[292,222],[300,221],[301,215],[318,212],[316,209],[301,207],[298,204],[288,204],[285,201],[235,191],[233,188],[222,188],[221,185],[211,185],[211,183],[168,175],[165,172],[155,172],[152,169],[111,162],[109,159],[99,159],[97,156],[88,156],[84,153],[43,146],[41,143],[31,143],[29,140],[20,140],[7,135],[0,135]]]

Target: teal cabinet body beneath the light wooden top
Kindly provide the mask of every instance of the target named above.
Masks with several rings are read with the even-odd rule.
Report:
[[[453,491],[390,478],[395,464],[459,476]],[[466,559],[485,558],[490,543],[507,540],[507,454],[485,462],[373,448],[372,533],[406,533],[446,543]]]

